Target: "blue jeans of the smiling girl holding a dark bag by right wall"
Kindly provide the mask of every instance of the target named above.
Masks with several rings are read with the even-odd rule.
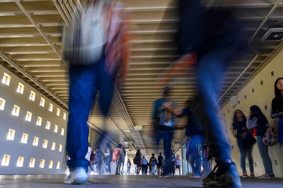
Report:
[[[237,142],[238,142],[239,150],[241,152],[241,166],[242,166],[242,170],[246,171],[246,156],[248,156],[250,171],[254,171],[254,162],[253,162],[253,158],[251,156],[252,148],[249,148],[249,149],[245,148],[243,146],[240,138],[237,138]]]

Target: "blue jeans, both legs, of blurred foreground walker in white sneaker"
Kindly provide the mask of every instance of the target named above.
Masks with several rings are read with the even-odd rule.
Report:
[[[105,58],[93,65],[70,67],[70,97],[66,151],[70,156],[67,165],[70,171],[84,168],[88,171],[90,162],[85,159],[88,151],[88,114],[100,90],[99,105],[107,114],[113,96],[114,78],[104,69]]]

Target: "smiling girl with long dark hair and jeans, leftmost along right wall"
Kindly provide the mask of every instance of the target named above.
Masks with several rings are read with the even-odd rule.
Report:
[[[241,134],[246,132],[248,128],[246,127],[246,116],[241,110],[236,110],[233,117],[233,134],[234,137],[237,138],[238,148],[241,153],[241,166],[243,170],[243,178],[249,177],[246,171],[246,156],[248,156],[249,160],[249,168],[250,168],[250,177],[254,177],[254,164],[253,158],[251,156],[252,147],[247,148],[244,143],[241,141]]]

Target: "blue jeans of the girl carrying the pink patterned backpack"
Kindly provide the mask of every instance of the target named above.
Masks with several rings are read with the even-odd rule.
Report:
[[[259,154],[263,162],[265,173],[273,174],[272,161],[269,157],[268,146],[263,144],[261,136],[256,136],[256,144],[259,148]]]

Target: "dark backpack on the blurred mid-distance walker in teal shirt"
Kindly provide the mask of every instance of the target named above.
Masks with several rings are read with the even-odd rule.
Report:
[[[173,129],[174,123],[175,123],[175,116],[173,115],[172,111],[165,108],[165,106],[162,104],[157,108],[157,123],[158,127],[165,129],[165,130],[171,130]]]

